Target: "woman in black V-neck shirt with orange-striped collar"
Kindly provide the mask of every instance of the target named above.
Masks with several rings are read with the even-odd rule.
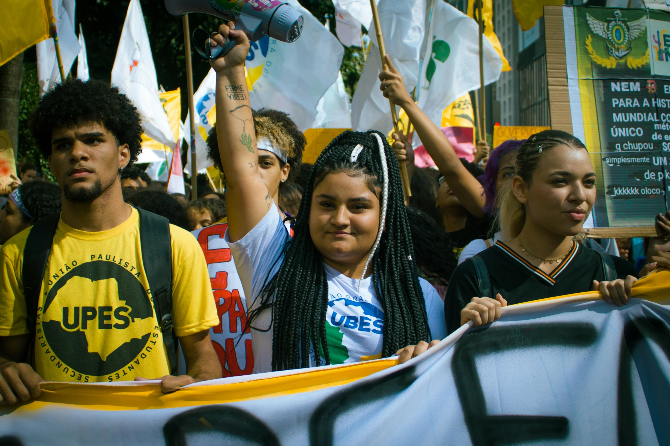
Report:
[[[539,132],[519,148],[516,173],[500,193],[505,242],[464,261],[452,275],[444,307],[448,332],[468,320],[493,322],[508,303],[594,289],[607,302],[628,302],[636,281],[630,262],[603,257],[573,239],[596,200],[596,174],[584,144],[560,130]],[[488,269],[486,297],[479,289],[477,263]],[[606,280],[614,275],[618,279]]]

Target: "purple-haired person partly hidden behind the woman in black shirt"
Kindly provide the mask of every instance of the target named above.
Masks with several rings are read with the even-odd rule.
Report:
[[[524,142],[526,142],[525,139],[509,139],[497,146],[488,156],[484,175],[479,177],[482,185],[484,185],[484,197],[486,197],[484,212],[490,214],[496,213],[496,193],[513,179],[515,163],[517,162],[517,150],[519,150],[519,147]],[[496,243],[498,239],[500,239],[500,231],[496,232],[490,239],[475,239],[470,241],[458,256],[458,264],[460,265],[460,263],[463,263],[473,255],[484,251],[484,249]]]

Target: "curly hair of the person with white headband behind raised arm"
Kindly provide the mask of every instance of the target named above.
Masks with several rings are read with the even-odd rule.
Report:
[[[293,179],[300,171],[302,151],[307,143],[304,134],[297,128],[288,114],[272,108],[254,110],[253,124],[257,138],[265,136],[286,152],[288,155],[287,162],[291,166],[286,182],[293,183]],[[207,137],[207,158],[214,162],[216,169],[223,172],[221,155],[218,152],[218,140],[216,140],[216,124],[214,124]]]

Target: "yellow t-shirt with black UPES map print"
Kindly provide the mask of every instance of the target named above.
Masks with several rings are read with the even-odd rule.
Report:
[[[31,228],[0,253],[0,336],[27,334],[23,247]],[[170,225],[172,320],[177,336],[218,324],[198,241]],[[139,213],[102,232],[56,229],[38,302],[36,372],[48,381],[100,382],[170,374],[142,265]]]

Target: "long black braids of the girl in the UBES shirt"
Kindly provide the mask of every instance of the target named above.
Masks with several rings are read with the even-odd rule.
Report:
[[[380,227],[384,230],[377,235],[366,269],[371,264],[377,298],[385,312],[382,356],[430,340],[395,154],[383,134],[348,130],[332,140],[314,163],[283,262],[263,288],[261,305],[249,312],[251,324],[261,311],[272,308],[273,370],[308,367],[310,346],[330,364],[325,325],[328,280],[322,255],[312,242],[309,221],[314,188],[329,173],[341,172],[364,177],[380,197]],[[319,355],[315,356],[320,365]]]

